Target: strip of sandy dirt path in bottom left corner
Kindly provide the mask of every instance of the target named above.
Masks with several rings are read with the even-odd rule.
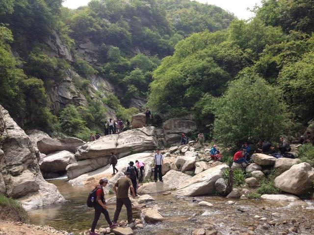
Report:
[[[68,232],[57,231],[49,226],[37,226],[20,222],[0,220],[0,235],[68,235]]]

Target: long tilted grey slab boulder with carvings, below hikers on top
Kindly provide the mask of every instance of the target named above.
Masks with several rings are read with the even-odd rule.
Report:
[[[78,148],[77,160],[110,157],[111,152],[122,158],[132,152],[154,150],[157,147],[156,128],[143,127],[122,132],[118,135],[107,135],[97,141],[88,142]]]

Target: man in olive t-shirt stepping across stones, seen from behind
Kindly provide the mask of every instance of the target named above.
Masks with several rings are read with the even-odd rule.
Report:
[[[117,183],[115,183],[115,185],[113,186],[113,190],[116,193],[116,198],[117,198],[116,199],[117,200],[116,211],[114,212],[114,216],[113,216],[113,223],[114,224],[117,223],[122,206],[125,205],[125,207],[127,208],[129,226],[131,227],[130,224],[133,223],[134,220],[132,218],[132,204],[128,196],[129,188],[131,189],[132,197],[135,198],[135,192],[132,185],[132,181],[130,179],[130,173],[125,172],[125,177],[118,180]]]

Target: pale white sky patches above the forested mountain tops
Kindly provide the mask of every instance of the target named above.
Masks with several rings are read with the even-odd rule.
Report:
[[[78,8],[87,5],[90,0],[65,0],[63,5],[69,8]],[[252,9],[255,4],[260,5],[261,0],[197,0],[202,3],[213,4],[221,8],[233,12],[238,19],[248,20],[254,14],[247,10]]]

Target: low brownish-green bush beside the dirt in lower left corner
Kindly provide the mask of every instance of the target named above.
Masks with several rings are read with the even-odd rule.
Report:
[[[0,194],[0,220],[26,222],[28,215],[21,202]]]

